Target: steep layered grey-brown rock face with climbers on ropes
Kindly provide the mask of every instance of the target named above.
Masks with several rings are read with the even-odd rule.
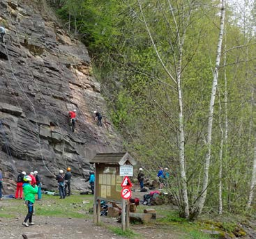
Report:
[[[107,109],[91,75],[86,47],[61,28],[45,1],[0,0],[0,170],[4,193],[19,172],[37,170],[43,188],[71,167],[73,189],[84,190],[97,152],[121,151],[114,129],[98,127],[93,110]],[[77,109],[75,133],[68,111]]]

